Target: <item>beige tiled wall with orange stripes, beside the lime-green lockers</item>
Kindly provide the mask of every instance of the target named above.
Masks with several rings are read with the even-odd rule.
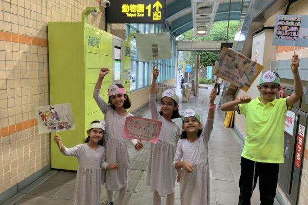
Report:
[[[49,105],[47,22],[81,21],[86,7],[99,5],[99,0],[0,0],[0,194],[50,163],[50,135],[38,134],[33,112]],[[105,30],[99,8],[88,23]]]

